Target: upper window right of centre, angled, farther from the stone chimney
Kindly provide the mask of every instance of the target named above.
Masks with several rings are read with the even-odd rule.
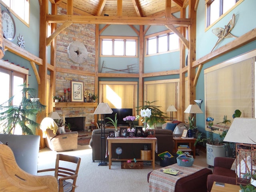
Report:
[[[176,51],[179,48],[179,38],[176,34],[165,31],[157,36],[145,36],[146,55]]]

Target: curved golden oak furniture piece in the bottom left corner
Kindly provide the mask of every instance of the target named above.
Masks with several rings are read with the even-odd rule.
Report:
[[[57,192],[58,184],[54,176],[35,176],[22,170],[10,147],[0,144],[0,191]]]

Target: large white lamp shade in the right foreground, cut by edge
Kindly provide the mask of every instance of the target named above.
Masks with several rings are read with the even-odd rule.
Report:
[[[223,141],[256,144],[256,118],[234,118]]]

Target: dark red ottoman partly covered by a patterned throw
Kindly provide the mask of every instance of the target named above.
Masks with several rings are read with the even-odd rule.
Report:
[[[148,173],[148,181],[150,173]],[[212,170],[203,168],[189,176],[180,178],[175,185],[175,192],[207,192],[207,176]]]

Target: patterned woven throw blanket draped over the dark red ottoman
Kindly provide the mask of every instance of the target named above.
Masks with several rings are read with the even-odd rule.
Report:
[[[161,172],[160,170],[166,168],[173,168],[182,172],[180,175],[171,175]],[[173,164],[164,168],[153,170],[149,176],[148,191],[149,192],[174,192],[176,182],[183,177],[189,176],[195,172],[198,172],[204,167],[191,166],[183,167],[178,164]]]

